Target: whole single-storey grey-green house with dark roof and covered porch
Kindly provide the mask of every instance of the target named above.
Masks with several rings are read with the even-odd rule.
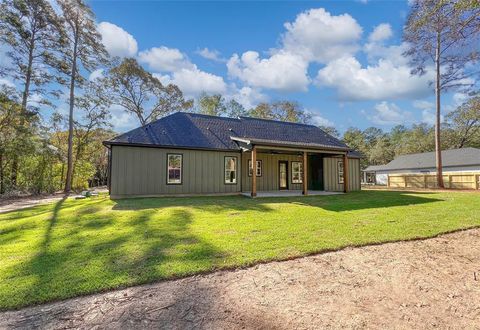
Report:
[[[360,189],[360,155],[313,125],[178,112],[104,145],[113,198]]]

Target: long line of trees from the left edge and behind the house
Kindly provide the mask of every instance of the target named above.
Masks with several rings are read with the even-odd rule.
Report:
[[[115,135],[113,107],[137,118],[138,125],[176,111],[312,121],[292,101],[246,109],[222,95],[186,99],[178,86],[162,84],[136,59],[111,58],[83,0],[2,1],[0,47],[7,50],[0,62],[0,195],[105,184],[108,159],[102,141]],[[447,116],[445,148],[478,146],[478,100],[472,97]],[[433,130],[426,125],[397,126],[391,132],[351,128],[343,136],[324,129],[361,151],[364,166],[434,150]]]

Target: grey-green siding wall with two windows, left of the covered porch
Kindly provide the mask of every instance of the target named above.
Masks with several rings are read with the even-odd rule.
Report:
[[[182,184],[167,184],[167,154],[183,155]],[[225,156],[237,157],[237,183],[224,183]],[[241,154],[112,146],[111,196],[239,193]]]

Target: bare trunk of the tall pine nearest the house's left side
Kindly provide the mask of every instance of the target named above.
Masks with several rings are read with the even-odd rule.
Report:
[[[68,151],[67,151],[67,177],[65,179],[65,192],[72,190],[73,181],[73,107],[75,104],[75,77],[77,73],[77,46],[78,30],[75,31],[73,44],[72,70],[70,72],[70,109],[68,113]]]

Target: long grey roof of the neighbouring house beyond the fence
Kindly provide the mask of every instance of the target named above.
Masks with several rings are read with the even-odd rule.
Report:
[[[442,151],[443,167],[480,166],[480,149],[461,148]],[[386,165],[369,166],[365,171],[413,170],[434,168],[436,165],[435,152],[403,155],[395,158]]]

